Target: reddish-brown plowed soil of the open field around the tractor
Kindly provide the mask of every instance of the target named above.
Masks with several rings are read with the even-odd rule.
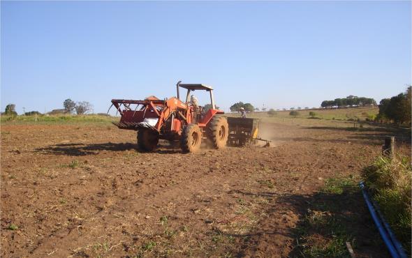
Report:
[[[294,228],[328,178],[358,175],[385,128],[267,123],[270,148],[136,151],[111,125],[1,127],[1,257],[299,256]],[[334,198],[334,197],[330,197]],[[385,257],[362,199],[358,257]],[[15,230],[10,225],[16,225]]]

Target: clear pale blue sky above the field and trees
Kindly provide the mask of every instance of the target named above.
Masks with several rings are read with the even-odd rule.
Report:
[[[411,1],[1,1],[1,109],[106,112],[214,87],[228,110],[387,98],[411,84]],[[200,103],[205,93],[197,93]]]

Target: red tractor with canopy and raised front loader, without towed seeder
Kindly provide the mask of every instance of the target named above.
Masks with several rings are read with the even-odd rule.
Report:
[[[200,149],[203,139],[209,139],[214,148],[222,149],[228,140],[228,121],[224,112],[215,109],[213,89],[204,84],[177,83],[177,97],[160,100],[154,96],[145,100],[112,100],[122,115],[114,124],[121,129],[138,131],[138,147],[154,151],[159,139],[180,142],[184,152]],[[179,88],[187,90],[186,100],[180,100]],[[191,91],[209,91],[211,108],[206,112],[198,106]]]

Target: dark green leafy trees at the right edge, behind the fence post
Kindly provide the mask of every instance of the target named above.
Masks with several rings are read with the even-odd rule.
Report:
[[[411,96],[412,86],[409,86],[405,92],[399,93],[392,98],[384,98],[379,103],[379,113],[376,120],[389,120],[398,126],[402,123],[411,123]]]

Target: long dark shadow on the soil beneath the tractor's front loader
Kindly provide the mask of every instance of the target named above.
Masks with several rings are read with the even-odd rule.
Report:
[[[44,148],[35,149],[35,152],[50,154],[50,155],[70,155],[70,156],[83,156],[83,155],[98,155],[100,153],[107,152],[122,152],[122,151],[138,151],[139,153],[160,153],[160,154],[172,154],[182,153],[182,150],[175,148],[175,146],[159,145],[156,151],[147,152],[140,151],[137,144],[131,143],[112,143],[106,142],[102,144],[54,144]]]

